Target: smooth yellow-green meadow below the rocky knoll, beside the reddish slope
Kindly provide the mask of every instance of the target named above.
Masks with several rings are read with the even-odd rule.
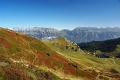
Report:
[[[111,61],[110,58],[97,58],[93,55],[87,54],[87,53],[73,53],[71,51],[64,51],[63,49],[57,49],[59,47],[54,46],[54,44],[49,41],[43,41],[47,46],[49,46],[51,49],[53,49],[54,51],[58,52],[59,54],[65,56],[68,59],[72,59],[73,61],[79,63],[80,65],[82,65],[84,68],[87,67],[93,67],[94,69],[106,69],[106,70],[110,70],[115,69],[118,72],[120,72],[120,69],[118,66],[116,66],[113,61]],[[115,59],[116,63],[118,65],[120,65],[120,59]],[[99,66],[99,67],[98,67]]]

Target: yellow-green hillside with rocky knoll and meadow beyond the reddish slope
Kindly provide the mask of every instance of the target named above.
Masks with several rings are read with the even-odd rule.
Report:
[[[95,71],[95,74],[97,74],[96,78],[94,78],[95,80],[112,80],[113,76],[110,78],[108,75],[114,75],[113,73],[120,76],[120,59],[97,58],[93,55],[90,55],[89,53],[83,52],[77,44],[70,42],[65,38],[57,38],[55,40],[42,42],[44,42],[54,51],[57,51],[60,55],[77,62],[80,65],[80,68],[85,71],[83,75],[85,75],[86,71]],[[69,48],[66,48],[67,45],[70,45]],[[77,49],[79,50],[78,52],[71,48],[75,46],[77,46]],[[91,74],[95,75],[94,73]],[[92,75],[91,77],[93,77]]]

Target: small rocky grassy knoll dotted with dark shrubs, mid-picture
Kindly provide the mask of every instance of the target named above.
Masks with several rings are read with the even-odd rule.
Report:
[[[56,47],[57,51],[71,52],[71,53],[82,53],[82,50],[79,46],[67,40],[66,38],[57,38],[50,41],[53,46]]]

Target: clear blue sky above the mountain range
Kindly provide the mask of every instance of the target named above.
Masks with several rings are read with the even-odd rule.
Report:
[[[0,27],[120,27],[120,0],[0,0]]]

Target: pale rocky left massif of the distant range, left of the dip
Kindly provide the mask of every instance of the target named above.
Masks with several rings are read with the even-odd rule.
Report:
[[[29,36],[35,37],[37,39],[49,39],[54,37],[59,37],[59,31],[57,29],[53,28],[40,28],[40,27],[34,27],[34,28],[27,28],[27,29],[20,29],[20,28],[14,28],[14,31],[21,32],[24,34],[27,34]]]

